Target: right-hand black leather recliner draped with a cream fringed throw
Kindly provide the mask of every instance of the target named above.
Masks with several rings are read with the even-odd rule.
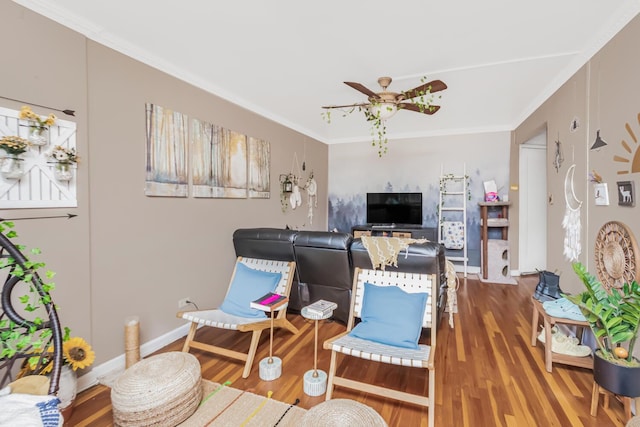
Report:
[[[354,269],[372,268],[371,258],[362,244],[362,239],[351,243],[351,259]],[[386,266],[385,270],[407,273],[435,274],[440,282],[438,295],[438,320],[447,306],[447,270],[444,246],[435,242],[412,243],[407,250],[398,254],[398,267]]]

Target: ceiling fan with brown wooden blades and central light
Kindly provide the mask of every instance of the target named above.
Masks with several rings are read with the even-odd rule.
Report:
[[[382,87],[382,92],[374,92],[360,83],[344,82],[347,86],[367,95],[368,102],[348,105],[328,105],[322,108],[359,108],[365,112],[367,119],[378,120],[386,120],[392,117],[398,110],[409,110],[431,115],[440,109],[439,105],[432,104],[432,94],[447,88],[447,85],[441,80],[432,80],[413,89],[399,93],[387,90],[391,81],[391,77],[380,77],[378,79],[378,84]]]

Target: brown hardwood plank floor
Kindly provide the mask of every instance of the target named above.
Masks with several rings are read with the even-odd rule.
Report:
[[[455,328],[447,324],[448,313],[440,325],[436,357],[436,426],[624,426],[622,404],[611,399],[609,409],[601,404],[598,416],[589,415],[593,374],[584,368],[555,364],[553,372],[544,367],[541,345],[531,347],[531,295],[537,276],[519,278],[518,286],[482,283],[470,276],[461,278]],[[173,316],[174,313],[167,315]],[[257,362],[268,356],[268,334],[263,334],[256,362],[247,379],[242,365],[229,359],[193,350],[202,365],[202,376],[218,383],[232,381],[232,387],[254,393],[273,391],[273,398],[311,408],[324,396],[303,393],[302,376],[313,367],[313,323],[299,315],[289,319],[300,328],[296,336],[277,330],[274,354],[283,360],[282,376],[261,381]],[[319,340],[344,331],[337,322],[323,322]],[[250,334],[202,328],[200,338],[225,346],[248,348]],[[179,351],[178,340],[159,352]],[[327,370],[330,352],[319,346],[318,366]],[[426,390],[421,370],[388,366],[349,358],[346,369],[354,377],[375,378],[405,389]],[[79,394],[69,426],[111,426],[110,389],[99,385]],[[389,426],[426,426],[427,409],[400,404],[362,393],[336,388],[334,398],[363,402],[387,421]]]

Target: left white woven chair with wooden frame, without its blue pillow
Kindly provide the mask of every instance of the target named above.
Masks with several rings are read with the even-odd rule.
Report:
[[[238,262],[242,262],[250,268],[262,271],[282,273],[282,279],[276,287],[276,292],[282,295],[289,296],[291,291],[291,283],[293,282],[293,274],[295,272],[294,261],[273,261],[257,258],[243,258],[238,257]],[[236,264],[237,265],[237,264]],[[229,288],[233,283],[236,269],[234,267],[231,280],[229,282]],[[229,289],[227,289],[227,293]],[[251,372],[251,365],[255,358],[256,351],[258,349],[258,343],[260,342],[260,335],[265,329],[271,328],[271,318],[265,319],[253,319],[233,316],[224,313],[220,309],[212,310],[196,310],[196,311],[181,311],[177,314],[177,317],[189,320],[191,327],[189,333],[182,347],[182,351],[188,352],[190,348],[197,348],[199,350],[208,351],[210,353],[219,354],[232,359],[242,360],[245,362],[244,371],[242,372],[242,378],[247,378]],[[212,344],[208,344],[195,340],[196,331],[199,326],[211,326],[214,328],[231,329],[239,332],[251,332],[251,344],[247,352],[241,352],[232,350],[229,348],[218,347]],[[289,320],[287,320],[286,305],[282,309],[277,311],[273,319],[274,328],[284,328],[292,334],[297,334],[298,329],[293,326]]]

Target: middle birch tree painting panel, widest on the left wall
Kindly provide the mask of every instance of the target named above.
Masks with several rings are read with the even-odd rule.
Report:
[[[194,197],[247,197],[247,138],[221,126],[192,120]]]

